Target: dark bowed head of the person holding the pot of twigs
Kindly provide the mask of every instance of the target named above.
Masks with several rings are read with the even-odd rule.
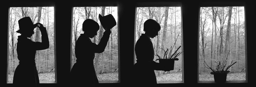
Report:
[[[160,31],[161,26],[156,20],[148,19],[144,22],[144,31],[150,38],[154,38],[158,35],[158,31]]]

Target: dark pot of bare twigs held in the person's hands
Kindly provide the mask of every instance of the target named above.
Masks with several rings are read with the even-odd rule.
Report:
[[[179,35],[178,35],[178,37],[179,37]],[[174,70],[174,61],[179,60],[177,57],[183,52],[183,51],[178,52],[178,50],[181,47],[180,46],[176,51],[174,51],[174,53],[172,53],[173,47],[176,44],[178,37],[176,38],[173,46],[171,46],[170,49],[167,48],[167,50],[164,50],[163,48],[160,48],[160,49],[164,50],[164,57],[160,57],[158,54],[156,54],[156,56],[159,58],[156,60],[159,60],[159,63],[163,65],[164,69]]]

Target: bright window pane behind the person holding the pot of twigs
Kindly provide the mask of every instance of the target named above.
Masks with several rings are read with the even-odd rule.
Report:
[[[165,12],[167,15],[165,15]],[[163,57],[164,51],[161,48],[164,48],[165,50],[167,48],[170,49],[176,39],[177,41],[172,52],[181,46],[182,38],[180,7],[138,7],[136,13],[136,42],[140,38],[141,34],[145,33],[143,31],[143,25],[147,19],[154,19],[161,26],[158,36],[151,38],[155,55],[158,54],[159,56]],[[181,48],[178,50],[178,52],[182,51]],[[157,81],[182,81],[182,55],[178,56],[177,58],[179,58],[179,60],[175,61],[174,63],[174,70],[167,72],[155,70]],[[154,57],[154,61],[156,59],[158,59],[157,56]]]

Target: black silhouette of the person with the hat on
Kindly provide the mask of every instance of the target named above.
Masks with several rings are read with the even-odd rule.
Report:
[[[36,50],[49,48],[49,39],[46,28],[41,23],[33,24],[30,17],[23,17],[19,21],[17,54],[19,65],[17,66],[13,84],[21,87],[37,87],[39,84],[38,73],[36,70],[35,55]],[[28,37],[34,34],[34,29],[39,27],[42,35],[42,42],[33,42]]]

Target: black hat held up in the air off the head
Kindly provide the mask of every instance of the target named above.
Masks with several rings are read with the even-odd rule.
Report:
[[[103,16],[103,17],[99,14],[99,18],[100,18],[100,23],[101,23],[101,25],[103,26],[103,28],[105,30],[106,29],[111,29],[114,26],[116,26],[116,20],[111,14],[108,14],[108,15]]]

